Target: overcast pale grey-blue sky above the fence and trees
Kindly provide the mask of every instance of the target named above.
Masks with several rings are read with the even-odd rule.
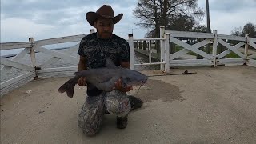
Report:
[[[256,0],[209,0],[210,26],[218,34],[230,34],[234,27],[247,22],[256,24]],[[93,28],[86,21],[86,12],[96,11],[103,4],[124,16],[114,26],[114,34],[127,38],[134,29],[134,38],[143,38],[147,30],[135,26],[138,19],[132,11],[137,0],[1,0],[1,42],[24,42],[88,34]],[[206,11],[206,0],[198,6]],[[200,22],[206,24],[206,17]]]

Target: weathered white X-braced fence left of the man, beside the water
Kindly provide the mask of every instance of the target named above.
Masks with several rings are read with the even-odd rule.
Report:
[[[38,77],[52,77],[52,76],[66,76],[73,74],[77,70],[77,66],[68,67],[58,67],[58,68],[46,68],[54,62],[62,59],[66,62],[78,64],[78,58],[71,56],[70,53],[78,50],[78,45],[71,46],[70,49],[65,50],[65,53],[60,53],[54,50],[46,49],[45,45],[54,45],[58,43],[65,42],[79,42],[85,34],[74,35],[62,38],[50,38],[45,40],[34,41],[34,38],[30,38],[30,42],[7,42],[1,43],[1,50],[13,50],[24,48],[19,54],[17,54],[11,60],[6,58],[1,58],[1,65],[4,65],[1,69],[1,74],[8,72],[11,68],[16,68],[18,70],[26,70],[25,74],[18,75],[17,77],[10,78],[5,82],[1,82],[1,95],[6,94],[6,92],[15,89],[18,86],[22,86],[26,82],[30,82],[33,78]],[[35,56],[35,51],[50,55],[51,58],[41,65],[37,65],[37,59]],[[19,61],[30,53],[30,59],[32,64],[26,65]]]

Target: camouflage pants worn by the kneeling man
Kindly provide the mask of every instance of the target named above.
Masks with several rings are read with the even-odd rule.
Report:
[[[127,94],[113,90],[102,92],[98,96],[87,97],[78,116],[78,126],[86,135],[91,136],[98,133],[106,111],[121,118],[129,114],[130,101]]]

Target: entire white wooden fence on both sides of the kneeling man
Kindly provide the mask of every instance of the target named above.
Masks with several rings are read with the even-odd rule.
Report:
[[[248,55],[248,46],[252,46],[256,49],[256,38],[249,38],[246,36],[234,37],[230,35],[217,34],[217,31],[214,31],[213,34],[206,33],[192,33],[192,32],[181,32],[181,31],[170,31],[165,30],[162,26],[160,29],[160,38],[143,38],[143,39],[134,39],[132,34],[129,34],[127,41],[130,45],[130,67],[134,70],[134,66],[142,65],[160,65],[160,69],[165,72],[169,72],[170,66],[218,66],[218,64],[247,64],[249,66],[256,66],[256,54]],[[94,30],[90,30],[94,32]],[[10,90],[14,90],[18,86],[22,86],[26,82],[30,82],[34,78],[41,77],[58,77],[58,76],[73,76],[74,72],[77,71],[78,57],[74,57],[71,54],[78,51],[78,45],[70,46],[69,49],[66,49],[64,52],[58,52],[54,50],[49,50],[46,45],[54,45],[58,43],[66,42],[80,42],[82,37],[86,34],[73,35],[62,38],[50,38],[39,41],[34,41],[34,38],[29,38],[29,42],[6,42],[1,43],[0,50],[14,50],[19,48],[24,48],[19,54],[17,54],[12,59],[7,59],[1,57],[1,74],[8,72],[11,68],[16,68],[19,70],[26,70],[25,74],[18,75],[17,77],[11,78],[5,82],[1,82],[1,96],[6,94]],[[198,42],[194,45],[189,45],[186,42],[178,40],[178,38],[204,38],[202,42]],[[237,40],[241,41],[235,46],[230,46],[222,39]],[[148,52],[149,52],[149,62],[147,63],[134,63],[134,41],[146,41],[149,42]],[[160,62],[151,61],[151,41],[160,41]],[[180,50],[174,54],[170,54],[169,45],[170,42],[173,42],[179,46],[182,46],[184,49]],[[206,44],[213,42],[213,54],[206,54],[202,50],[198,50],[199,47],[205,46]],[[226,46],[227,50],[221,54],[217,54],[217,45],[221,43],[223,46]],[[245,53],[242,54],[238,51],[238,48],[244,46]],[[187,60],[177,60],[178,58],[188,52],[193,51],[196,54],[202,55],[204,59],[187,59]],[[235,54],[238,54],[241,58],[225,58],[221,59],[233,51]],[[46,62],[38,65],[36,59],[36,52],[44,53],[50,55],[51,58]],[[31,65],[22,64],[19,62],[21,58],[30,54]],[[74,66],[64,66],[64,67],[47,67],[54,62],[58,62],[60,59],[66,62],[74,63]]]

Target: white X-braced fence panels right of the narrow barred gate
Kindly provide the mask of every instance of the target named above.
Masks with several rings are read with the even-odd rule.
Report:
[[[248,54],[248,46],[256,49],[256,44],[254,42],[256,38],[246,37],[237,37],[230,35],[217,34],[217,31],[214,30],[214,33],[196,33],[196,32],[182,32],[182,31],[173,31],[165,30],[165,33],[170,34],[170,42],[178,46],[182,46],[184,49],[170,54],[170,66],[218,66],[218,65],[250,65],[256,66],[256,54]],[[178,38],[201,38],[201,42],[195,43],[194,45],[189,45],[186,42],[179,40]],[[238,44],[231,46],[228,41],[233,40],[237,41]],[[207,54],[203,50],[198,48],[206,46],[207,44],[212,43],[212,53]],[[226,47],[226,50],[220,54],[217,54],[218,45]],[[243,47],[242,47],[243,46]],[[240,51],[243,48],[243,53]],[[238,50],[239,49],[239,50]],[[194,54],[201,55],[203,59],[186,59],[186,60],[177,60],[175,58],[184,56],[189,52],[194,52]],[[237,54],[240,58],[224,58],[227,54],[233,52]]]

